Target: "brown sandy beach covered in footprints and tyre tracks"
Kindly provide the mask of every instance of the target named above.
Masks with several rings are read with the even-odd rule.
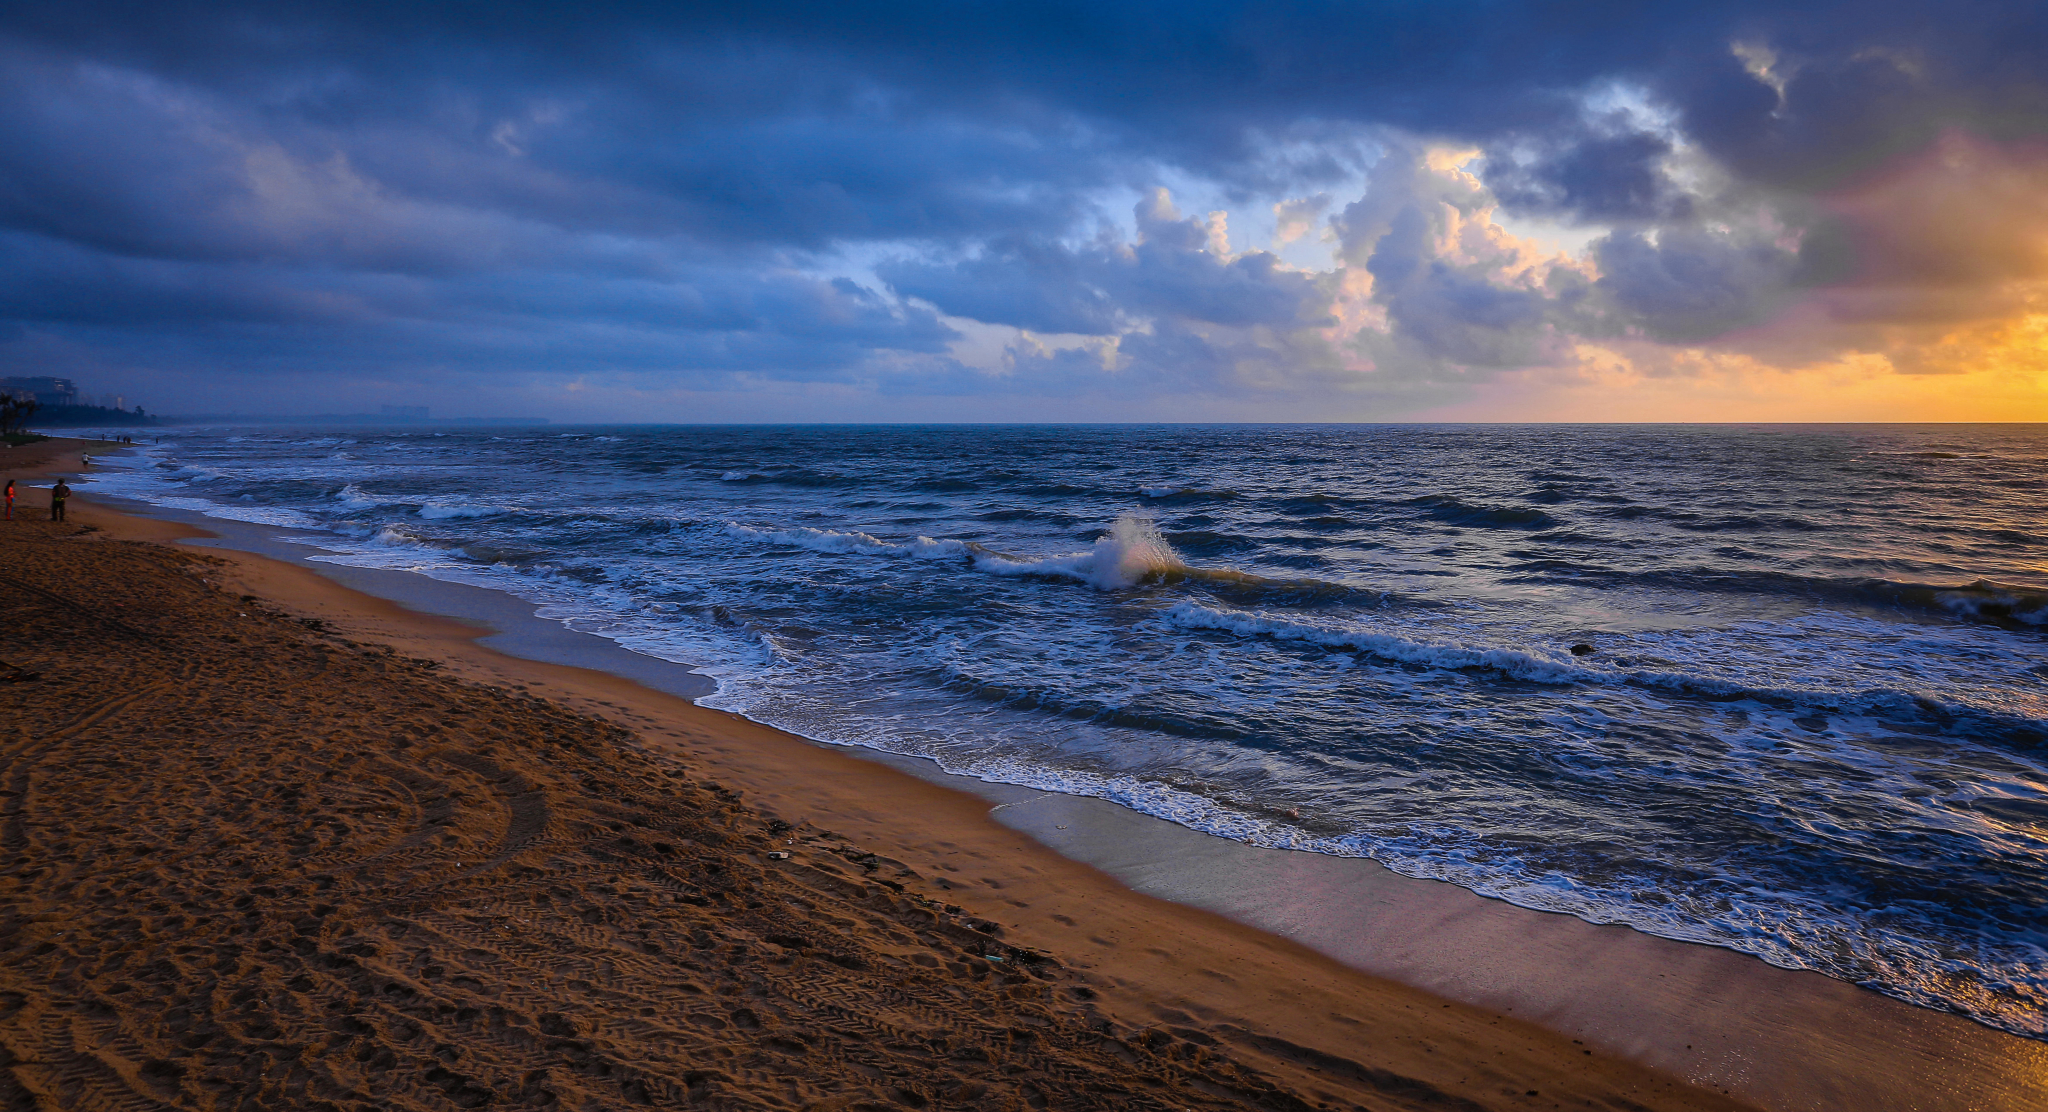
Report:
[[[16,1106],[1747,1106],[190,532],[74,502],[0,534]]]

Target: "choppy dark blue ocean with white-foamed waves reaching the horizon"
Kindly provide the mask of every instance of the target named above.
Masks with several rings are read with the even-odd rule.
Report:
[[[176,428],[709,707],[2048,1038],[2048,428]]]

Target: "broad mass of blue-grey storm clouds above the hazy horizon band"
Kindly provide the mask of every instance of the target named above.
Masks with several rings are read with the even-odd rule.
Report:
[[[1382,164],[1335,203],[1386,313],[1376,362],[1456,377],[1575,334],[1710,340],[1802,285],[1909,268],[1919,240],[1860,238],[1825,197],[1944,129],[2042,135],[2044,20],[1970,0],[16,4],[0,365],[47,358],[43,336],[125,367],[270,344],[260,362],[313,371],[399,352],[954,381],[928,303],[1120,338],[1108,362],[1022,352],[989,389],[1055,365],[1323,383],[1329,281],[1165,209],[1102,231],[1102,199],[1176,176],[1305,221],[1331,203],[1303,197],[1374,158],[1413,176],[1409,141],[1483,147],[1489,195]],[[1614,88],[1649,113],[1589,109]],[[1614,227],[1597,283],[1444,254],[1432,207],[1493,203]],[[831,276],[846,258],[889,258],[883,285]]]

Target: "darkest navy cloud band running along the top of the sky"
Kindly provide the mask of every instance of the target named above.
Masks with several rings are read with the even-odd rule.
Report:
[[[2040,113],[2048,39],[2036,6],[1980,0],[82,2],[23,8],[10,25],[66,53],[328,119],[410,117],[420,90],[451,82],[479,109],[625,90],[672,121],[829,113],[889,90],[977,119],[1077,111],[1141,131],[1139,143],[1210,154],[1241,149],[1245,127],[1303,119],[1532,131],[1577,119],[1575,94],[1612,78],[1659,88],[1726,154],[1868,139],[1956,113]],[[1784,104],[1731,41],[1776,43],[1792,74]]]

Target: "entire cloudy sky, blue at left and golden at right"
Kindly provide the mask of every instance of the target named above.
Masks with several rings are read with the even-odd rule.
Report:
[[[2048,4],[0,4],[170,414],[2048,420]]]

